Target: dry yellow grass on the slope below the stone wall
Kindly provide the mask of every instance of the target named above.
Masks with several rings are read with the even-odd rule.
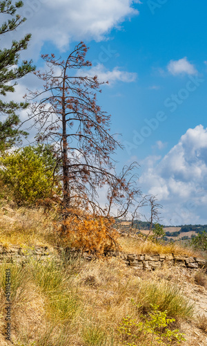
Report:
[[[141,303],[141,311],[149,309],[149,299],[151,295],[155,297],[153,290],[156,288],[159,300],[166,299],[167,279],[160,281],[155,272],[126,268],[118,258],[95,262],[78,258],[67,264],[48,262],[44,266],[31,260],[23,268],[18,264],[1,264],[1,316],[5,314],[4,273],[8,267],[12,276],[12,340],[15,346],[124,345],[118,332],[119,323],[127,315],[141,320],[131,298]],[[169,272],[164,275],[167,277]],[[175,297],[179,298],[181,293],[177,289],[173,293],[172,283],[169,287],[173,295],[172,309]],[[167,299],[169,301],[169,296]],[[183,312],[183,308],[189,306],[188,301],[181,297],[176,304],[177,316],[182,308],[180,313],[189,319]],[[3,317],[0,321],[2,336]],[[137,340],[136,345],[142,346],[142,339]]]

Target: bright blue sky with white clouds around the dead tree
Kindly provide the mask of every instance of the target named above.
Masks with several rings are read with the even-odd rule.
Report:
[[[10,38],[32,33],[23,57],[66,57],[83,40],[87,73],[108,80],[99,104],[126,146],[117,170],[138,161],[139,185],[156,194],[164,224],[207,224],[206,1],[28,0]],[[16,98],[37,84],[21,80]]]

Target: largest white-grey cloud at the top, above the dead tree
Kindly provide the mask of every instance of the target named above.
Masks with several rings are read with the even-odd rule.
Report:
[[[30,46],[38,56],[44,42],[66,51],[70,42],[87,39],[100,41],[121,22],[138,15],[137,0],[29,0],[19,13],[27,21],[17,28],[17,37],[32,33]],[[8,39],[7,39],[8,40]],[[34,59],[34,57],[33,57]]]

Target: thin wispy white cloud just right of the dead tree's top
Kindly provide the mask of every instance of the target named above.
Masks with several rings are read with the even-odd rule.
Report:
[[[108,71],[103,64],[97,64],[96,66],[92,66],[91,69],[87,71],[81,70],[78,75],[87,75],[89,77],[98,76],[99,82],[107,82],[112,85],[115,82],[135,82],[137,79],[137,73],[126,72],[119,70],[118,67],[115,67],[112,71]]]

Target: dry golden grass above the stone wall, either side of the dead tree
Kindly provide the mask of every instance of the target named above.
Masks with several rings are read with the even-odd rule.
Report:
[[[60,239],[54,230],[53,221],[57,212],[44,213],[43,209],[18,208],[9,206],[0,209],[0,244],[3,246],[56,246]],[[175,253],[179,255],[201,255],[191,248],[183,248],[176,243],[155,244],[132,237],[119,237],[119,246],[124,253]]]

